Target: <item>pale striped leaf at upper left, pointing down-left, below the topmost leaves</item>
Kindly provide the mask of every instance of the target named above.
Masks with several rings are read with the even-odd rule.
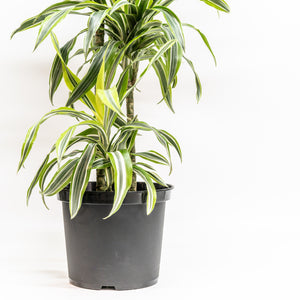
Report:
[[[35,43],[34,50],[41,44],[41,42],[50,34],[53,28],[61,22],[71,11],[70,9],[65,9],[61,11],[57,11],[52,15],[48,16],[41,24],[38,37]]]

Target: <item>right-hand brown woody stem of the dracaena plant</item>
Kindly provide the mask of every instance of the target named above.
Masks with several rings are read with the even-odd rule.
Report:
[[[138,69],[139,69],[138,64],[135,63],[133,65],[130,75],[129,75],[128,89],[130,89],[131,87],[133,87],[135,85]],[[129,121],[133,120],[133,118],[134,118],[134,89],[126,97],[126,113],[127,113],[127,119]],[[132,147],[131,154],[132,153],[135,153],[135,145]],[[132,163],[135,163],[134,155],[131,155],[131,161],[132,161]],[[133,173],[130,191],[136,191],[136,190],[137,190],[136,174]]]

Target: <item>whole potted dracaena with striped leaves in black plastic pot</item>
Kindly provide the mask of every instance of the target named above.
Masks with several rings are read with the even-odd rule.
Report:
[[[202,1],[229,12],[223,0]],[[181,150],[173,135],[137,118],[134,90],[153,68],[162,101],[174,111],[172,89],[184,59],[195,74],[200,99],[200,80],[184,54],[183,25],[195,29],[213,55],[205,35],[182,24],[169,8],[172,2],[63,1],[27,19],[13,33],[39,26],[34,49],[50,37],[56,51],[49,77],[51,103],[62,81],[70,90],[65,107],[48,112],[28,130],[18,170],[45,121],[58,115],[74,119],[34,176],[27,203],[37,185],[46,207],[45,196],[59,195],[69,277],[80,287],[134,289],[153,285],[158,278],[165,202],[172,186],[155,172],[153,164],[168,166],[171,172],[171,149],[180,158]],[[87,25],[60,45],[54,29],[69,14],[87,18]],[[78,56],[83,62],[75,74],[68,62]],[[146,62],[142,70],[141,62]],[[84,66],[88,68],[81,76]],[[78,101],[85,111],[75,108]],[[144,131],[155,135],[165,154],[136,151],[135,140]],[[92,170],[96,170],[96,182],[89,182]],[[137,175],[143,182],[137,182]]]

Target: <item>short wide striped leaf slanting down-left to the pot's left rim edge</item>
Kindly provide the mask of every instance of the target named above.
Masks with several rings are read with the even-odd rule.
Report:
[[[53,175],[51,181],[43,191],[46,196],[53,196],[65,188],[71,181],[74,168],[78,162],[78,158],[67,161]]]

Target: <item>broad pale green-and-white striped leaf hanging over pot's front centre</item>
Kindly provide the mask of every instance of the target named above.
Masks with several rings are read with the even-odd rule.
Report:
[[[111,212],[105,219],[120,209],[132,181],[132,163],[128,150],[108,152],[108,156],[114,170],[115,196]]]

